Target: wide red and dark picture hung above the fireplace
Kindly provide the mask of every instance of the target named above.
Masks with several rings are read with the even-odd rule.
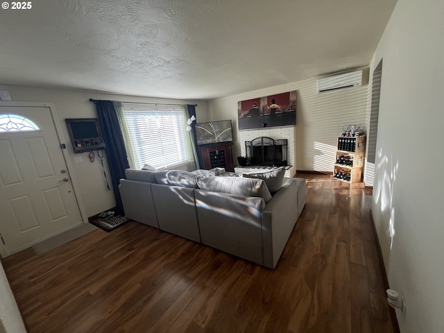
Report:
[[[296,125],[297,91],[239,101],[239,130]]]

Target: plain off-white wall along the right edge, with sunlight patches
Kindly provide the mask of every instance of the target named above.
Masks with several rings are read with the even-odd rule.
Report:
[[[442,0],[398,0],[373,58],[383,66],[372,210],[388,282],[407,302],[403,333],[444,332],[443,22]]]

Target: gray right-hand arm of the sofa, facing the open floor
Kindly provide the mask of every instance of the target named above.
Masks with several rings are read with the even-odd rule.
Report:
[[[299,185],[298,185],[299,184]],[[264,220],[264,260],[266,267],[275,268],[298,220],[298,186],[288,178],[262,212]]]

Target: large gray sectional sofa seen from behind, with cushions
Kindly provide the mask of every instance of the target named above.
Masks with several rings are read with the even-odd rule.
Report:
[[[259,175],[126,170],[119,190],[125,215],[275,268],[306,200],[302,178],[284,169]]]

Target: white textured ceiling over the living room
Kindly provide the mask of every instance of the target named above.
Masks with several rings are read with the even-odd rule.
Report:
[[[0,83],[229,96],[368,65],[395,3],[32,1],[0,11]]]

